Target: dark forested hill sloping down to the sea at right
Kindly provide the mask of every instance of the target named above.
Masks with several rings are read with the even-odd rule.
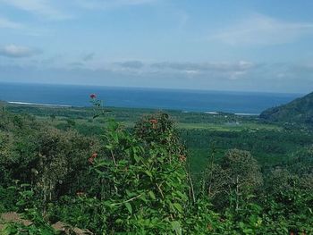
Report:
[[[260,117],[274,122],[313,124],[313,92],[286,105],[269,108]]]

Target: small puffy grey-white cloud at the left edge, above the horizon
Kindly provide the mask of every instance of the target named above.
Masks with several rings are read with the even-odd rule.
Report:
[[[0,48],[0,56],[19,58],[38,54],[38,50],[27,46],[8,45]]]

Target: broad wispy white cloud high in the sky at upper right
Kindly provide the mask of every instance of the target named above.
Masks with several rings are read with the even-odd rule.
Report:
[[[232,46],[275,45],[290,43],[308,34],[313,34],[313,22],[280,21],[255,14],[213,34],[208,39]]]

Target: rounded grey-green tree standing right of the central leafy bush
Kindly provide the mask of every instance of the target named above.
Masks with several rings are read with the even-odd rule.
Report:
[[[248,151],[229,150],[222,163],[214,164],[210,171],[206,180],[207,194],[218,207],[227,206],[228,202],[236,210],[240,209],[241,201],[263,184],[258,162]]]

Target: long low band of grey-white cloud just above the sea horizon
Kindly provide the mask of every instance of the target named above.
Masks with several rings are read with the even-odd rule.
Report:
[[[64,63],[63,63],[64,64]],[[313,89],[312,64],[178,63],[123,61],[89,68],[86,63],[1,65],[5,81],[210,90],[304,93]],[[300,82],[301,81],[301,82]]]

